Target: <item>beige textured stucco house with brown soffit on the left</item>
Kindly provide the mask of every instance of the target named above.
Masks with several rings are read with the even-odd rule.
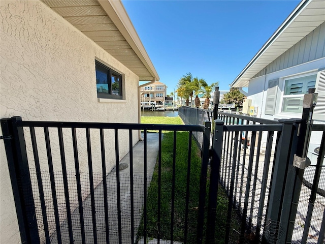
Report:
[[[159,77],[120,1],[3,0],[0,4],[1,118],[140,122],[139,81],[154,82]],[[120,158],[128,151],[123,135]],[[133,138],[135,144],[137,132]],[[0,243],[19,243],[3,141],[0,145]],[[108,141],[107,172],[115,164],[113,150],[114,142]],[[42,160],[46,149],[39,151],[46,164]],[[53,162],[59,162],[58,146],[53,145],[52,153]],[[81,151],[79,157],[80,168],[86,168],[86,153]],[[99,157],[100,153],[94,154],[94,171]]]

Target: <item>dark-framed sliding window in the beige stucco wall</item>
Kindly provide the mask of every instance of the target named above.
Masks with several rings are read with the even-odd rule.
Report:
[[[98,61],[95,64],[97,97],[122,99],[122,76]]]

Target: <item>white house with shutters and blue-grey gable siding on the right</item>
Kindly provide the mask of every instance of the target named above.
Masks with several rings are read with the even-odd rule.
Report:
[[[316,88],[315,123],[325,120],[325,1],[302,1],[232,82],[248,87],[257,117],[301,118]],[[319,141],[319,140],[318,140]]]

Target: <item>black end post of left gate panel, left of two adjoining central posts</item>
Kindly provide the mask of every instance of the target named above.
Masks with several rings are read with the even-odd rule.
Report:
[[[197,227],[197,243],[201,244],[203,240],[203,225],[204,225],[204,209],[205,198],[207,192],[207,171],[209,161],[209,146],[211,135],[211,121],[204,121],[204,133],[202,143],[202,159],[201,159],[201,178],[200,178],[200,196],[198,209],[198,227]]]

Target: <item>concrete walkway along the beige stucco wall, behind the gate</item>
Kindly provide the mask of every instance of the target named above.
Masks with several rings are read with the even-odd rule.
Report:
[[[158,134],[147,134],[147,187],[150,185],[152,173],[158,155]],[[129,154],[121,163],[129,164]],[[121,232],[122,243],[132,243],[131,239],[131,184],[130,167],[120,171],[120,199],[121,199]],[[144,142],[139,141],[133,147],[133,187],[134,187],[134,237],[137,237],[137,228],[140,225],[142,208],[144,203]],[[105,208],[103,182],[96,187],[95,210],[96,210],[96,233],[98,243],[106,243],[105,231]],[[109,219],[109,238],[110,243],[118,243],[118,215],[117,215],[117,188],[116,188],[116,169],[114,168],[107,175],[108,193],[108,219]],[[91,199],[88,196],[83,202],[83,216],[85,226],[86,243],[93,243],[93,227],[91,215]],[[74,243],[82,243],[79,209],[72,213],[72,225]],[[62,243],[69,242],[69,229],[67,221],[61,224]],[[57,243],[57,235],[51,236],[51,243]]]

